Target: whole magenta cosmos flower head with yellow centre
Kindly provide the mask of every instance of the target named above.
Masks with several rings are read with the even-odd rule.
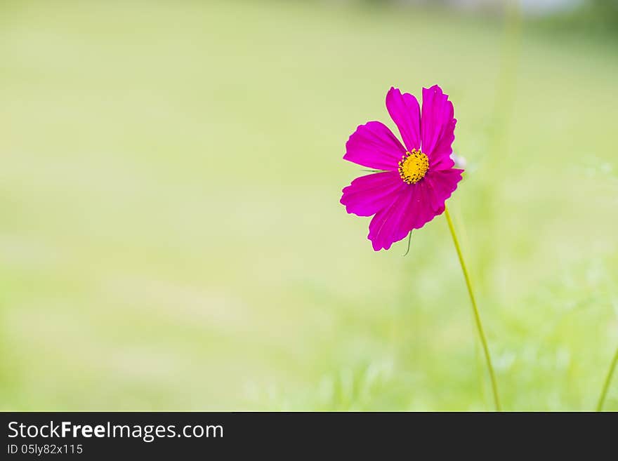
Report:
[[[348,213],[374,215],[367,238],[376,251],[440,215],[463,173],[451,159],[453,104],[438,85],[423,88],[422,111],[413,95],[390,88],[386,109],[405,147],[386,125],[369,121],[350,136],[343,156],[377,171],[353,180],[341,196]]]

